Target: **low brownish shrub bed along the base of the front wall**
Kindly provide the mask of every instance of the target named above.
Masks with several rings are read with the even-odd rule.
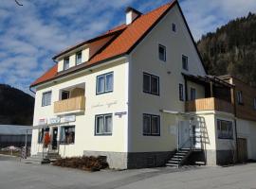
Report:
[[[101,169],[107,168],[108,163],[104,157],[72,157],[72,158],[63,158],[58,159],[55,163],[56,166],[77,168],[86,171],[100,171]]]

